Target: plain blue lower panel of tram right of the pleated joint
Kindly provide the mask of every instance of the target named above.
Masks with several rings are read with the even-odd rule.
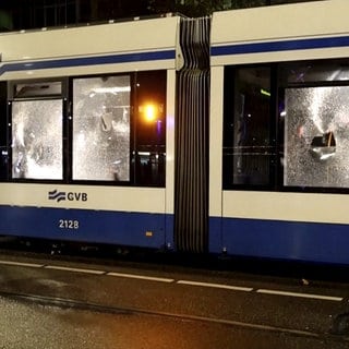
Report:
[[[349,226],[340,224],[224,218],[221,243],[231,255],[349,264]]]

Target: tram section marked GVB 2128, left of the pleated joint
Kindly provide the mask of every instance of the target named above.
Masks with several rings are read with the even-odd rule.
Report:
[[[168,17],[0,37],[1,234],[172,245],[177,24]],[[86,39],[98,43],[95,51]],[[47,45],[31,57],[23,40],[61,49],[50,56]]]

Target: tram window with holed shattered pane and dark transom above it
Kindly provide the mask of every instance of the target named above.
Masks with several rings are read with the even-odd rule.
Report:
[[[285,186],[349,188],[348,82],[347,59],[280,64]]]

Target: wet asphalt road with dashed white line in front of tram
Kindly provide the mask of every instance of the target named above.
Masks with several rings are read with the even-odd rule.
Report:
[[[0,254],[0,348],[348,348],[349,285]]]

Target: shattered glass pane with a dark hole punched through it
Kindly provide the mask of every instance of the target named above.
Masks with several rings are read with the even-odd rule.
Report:
[[[285,92],[284,184],[349,188],[349,86]]]

